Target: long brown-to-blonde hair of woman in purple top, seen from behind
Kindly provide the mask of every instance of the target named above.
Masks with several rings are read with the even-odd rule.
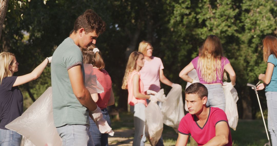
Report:
[[[223,48],[219,38],[215,35],[209,35],[203,44],[201,55],[198,59],[198,70],[205,82],[216,81],[216,75],[221,79],[221,57],[223,57]],[[224,72],[224,80],[227,75]]]

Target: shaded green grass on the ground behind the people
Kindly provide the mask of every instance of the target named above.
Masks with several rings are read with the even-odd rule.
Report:
[[[120,121],[112,119],[112,129],[134,129],[134,119],[131,113],[120,113]],[[263,120],[238,120],[237,130],[231,129],[233,146],[258,146],[264,145],[267,140]],[[165,146],[176,144],[178,134],[172,127],[164,125],[163,141]],[[130,135],[132,137],[134,135]],[[188,143],[188,146],[190,144]]]

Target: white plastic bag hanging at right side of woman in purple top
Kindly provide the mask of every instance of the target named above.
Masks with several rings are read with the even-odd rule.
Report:
[[[231,85],[231,83],[224,82],[223,83],[223,91],[225,95],[225,114],[228,119],[229,126],[236,130],[238,125],[238,109],[237,109],[237,101],[238,101],[238,93],[237,90]]]

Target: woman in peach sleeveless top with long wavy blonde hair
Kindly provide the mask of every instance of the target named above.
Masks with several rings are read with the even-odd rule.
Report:
[[[128,89],[128,103],[134,106],[134,126],[135,136],[133,140],[134,146],[143,146],[144,140],[142,135],[145,129],[145,108],[147,106],[146,99],[157,101],[154,95],[145,95],[142,80],[140,79],[140,69],[144,66],[144,56],[140,52],[132,52],[129,56],[122,81],[122,89]],[[147,94],[155,94],[148,90]]]

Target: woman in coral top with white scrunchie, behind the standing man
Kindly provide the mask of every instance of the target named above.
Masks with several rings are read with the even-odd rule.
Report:
[[[114,105],[114,93],[112,92],[112,80],[109,73],[104,69],[105,64],[101,57],[99,49],[95,45],[89,46],[87,49],[82,49],[84,64],[93,65],[93,73],[96,75],[98,82],[103,86],[103,93],[92,94],[91,97],[101,109],[103,118],[106,119],[111,126],[111,119],[107,110],[107,106]],[[108,134],[102,134],[96,126],[93,119],[89,117],[90,127],[89,132],[93,138],[95,146],[107,146]],[[92,144],[89,144],[92,145]]]

